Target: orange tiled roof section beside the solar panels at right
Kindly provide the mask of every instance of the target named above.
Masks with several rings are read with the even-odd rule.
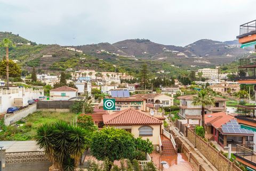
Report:
[[[227,115],[226,112],[217,112],[204,115],[204,123],[207,125],[210,124],[217,129],[231,119],[234,119],[234,117]]]

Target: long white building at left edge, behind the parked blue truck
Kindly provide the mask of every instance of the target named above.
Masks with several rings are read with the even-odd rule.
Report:
[[[39,99],[44,96],[43,89],[33,89],[24,87],[12,87],[11,89],[0,89],[0,113],[6,112],[13,106],[14,98],[25,98],[27,100]]]

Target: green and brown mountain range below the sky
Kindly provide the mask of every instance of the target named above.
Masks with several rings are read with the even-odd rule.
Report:
[[[8,37],[17,47],[10,48],[10,58],[21,63],[22,68],[30,70],[31,67],[45,71],[59,71],[67,68],[99,69],[99,59],[125,70],[136,71],[139,64],[148,63],[152,71],[166,69],[185,70],[198,67],[214,67],[222,63],[229,63],[241,58],[252,48],[240,48],[237,40],[226,42],[211,39],[201,39],[185,47],[163,45],[151,42],[149,39],[127,39],[114,44],[99,43],[81,46],[35,45],[35,43],[12,34],[0,32],[0,40]],[[27,45],[29,43],[30,45]],[[67,50],[67,47],[70,47]],[[73,51],[74,48],[76,51]],[[83,51],[88,58],[79,53]],[[52,55],[52,56],[51,56]],[[0,50],[4,56],[4,50]],[[94,62],[94,63],[93,63]],[[90,64],[91,63],[91,64]],[[100,70],[104,69],[101,67]]]

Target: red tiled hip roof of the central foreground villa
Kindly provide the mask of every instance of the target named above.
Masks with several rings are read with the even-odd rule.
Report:
[[[161,125],[157,118],[151,117],[141,111],[129,108],[111,115],[103,115],[105,125]]]

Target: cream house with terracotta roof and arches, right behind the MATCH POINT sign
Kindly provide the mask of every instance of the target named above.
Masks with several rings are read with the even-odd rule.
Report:
[[[132,97],[145,99],[147,103],[153,104],[154,107],[170,107],[173,105],[173,97],[161,93],[135,94]]]

